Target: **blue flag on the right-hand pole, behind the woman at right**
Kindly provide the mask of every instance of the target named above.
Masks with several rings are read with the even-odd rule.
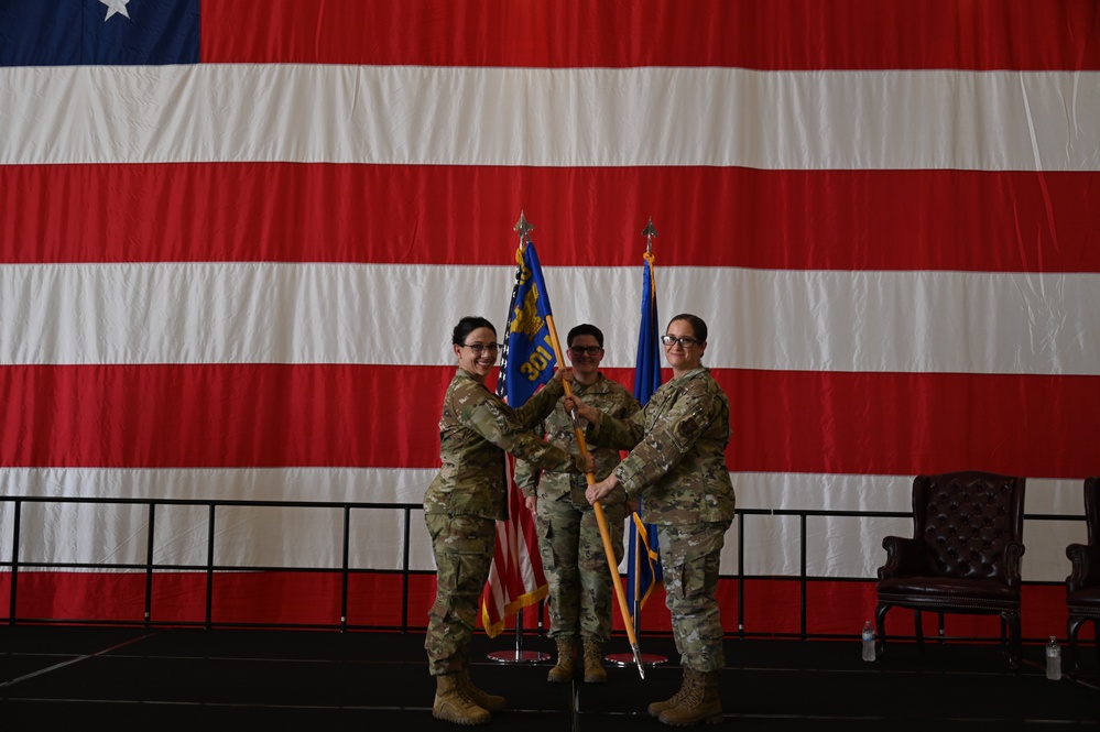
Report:
[[[642,269],[642,325],[638,334],[638,356],[634,363],[634,398],[642,404],[650,401],[661,387],[661,335],[657,319],[657,288],[653,280],[653,255],[645,254]],[[643,524],[638,513],[631,516],[628,532],[627,596],[633,600],[632,621],[638,623],[639,610],[661,583],[661,561],[657,549],[657,531],[653,524]]]

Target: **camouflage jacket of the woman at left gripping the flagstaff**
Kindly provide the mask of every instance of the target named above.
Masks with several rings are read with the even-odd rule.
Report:
[[[535,437],[542,422],[564,394],[551,381],[513,409],[478,379],[458,369],[443,398],[439,460],[443,463],[424,493],[425,513],[451,513],[508,518],[504,451],[543,470],[584,474],[580,456],[573,456]]]

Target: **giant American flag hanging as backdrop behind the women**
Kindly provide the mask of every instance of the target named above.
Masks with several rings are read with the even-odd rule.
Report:
[[[420,503],[450,329],[504,325],[522,210],[558,327],[599,325],[628,386],[652,218],[662,316],[710,326],[739,507],[907,511],[914,474],[972,468],[1079,514],[1098,120],[1096,0],[0,0],[0,493]],[[353,567],[401,567],[400,515],[355,514]],[[340,517],[228,507],[209,536],[165,506],[152,550],[336,566]],[[145,558],[141,506],[21,521],[21,561]],[[0,503],[8,562],[13,525]],[[856,633],[873,586],[843,580],[907,531],[808,520],[836,580],[810,632]],[[748,516],[723,572],[797,573],[798,532]],[[1024,633],[1059,633],[1083,526],[1024,539],[1049,582]],[[154,620],[202,616],[200,575],[159,573]],[[23,571],[18,614],[140,618],[137,576]],[[217,620],[339,613],[314,575],[218,581]],[[745,630],[797,630],[796,592],[750,582]]]

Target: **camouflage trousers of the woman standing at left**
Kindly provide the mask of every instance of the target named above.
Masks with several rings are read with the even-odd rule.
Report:
[[[432,676],[469,667],[470,642],[489,579],[497,525],[492,518],[426,513],[424,522],[435,555],[435,602],[428,611],[424,649]]]

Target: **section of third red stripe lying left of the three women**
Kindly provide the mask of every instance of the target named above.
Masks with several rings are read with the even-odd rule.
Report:
[[[347,364],[0,367],[0,463],[435,467],[439,400],[454,373]]]

